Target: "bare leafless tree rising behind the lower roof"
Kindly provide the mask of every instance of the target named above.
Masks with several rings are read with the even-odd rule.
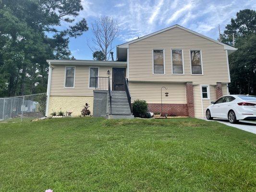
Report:
[[[88,44],[90,49],[95,52],[96,50],[101,50],[102,53],[105,55],[105,60],[109,60],[111,55],[110,52],[112,51],[112,43],[114,39],[118,36],[118,22],[114,21],[109,16],[103,16],[95,21],[92,24],[92,32],[94,34],[94,38],[92,39],[96,48],[91,48]]]

